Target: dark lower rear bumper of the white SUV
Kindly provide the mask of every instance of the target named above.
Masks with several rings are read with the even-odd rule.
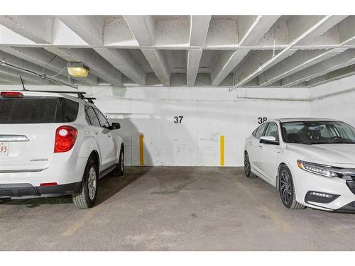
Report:
[[[63,196],[80,192],[81,182],[48,187],[31,184],[0,184],[0,199],[29,199],[46,196]]]

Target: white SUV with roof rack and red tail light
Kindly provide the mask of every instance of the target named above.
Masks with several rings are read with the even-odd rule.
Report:
[[[124,174],[119,123],[83,94],[0,92],[0,199],[71,194],[90,208],[98,179]]]

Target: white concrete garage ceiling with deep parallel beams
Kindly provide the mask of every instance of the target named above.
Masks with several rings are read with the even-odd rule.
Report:
[[[0,59],[97,86],[314,87],[355,74],[355,16],[0,16]],[[50,84],[0,66],[1,84]]]

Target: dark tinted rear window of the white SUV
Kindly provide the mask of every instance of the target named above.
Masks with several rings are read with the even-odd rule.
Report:
[[[79,103],[50,96],[0,96],[0,124],[70,123],[77,119]]]

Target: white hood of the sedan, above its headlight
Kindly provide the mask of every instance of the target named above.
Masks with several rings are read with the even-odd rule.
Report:
[[[288,143],[288,150],[298,153],[300,160],[330,165],[354,165],[355,144],[295,144]]]

